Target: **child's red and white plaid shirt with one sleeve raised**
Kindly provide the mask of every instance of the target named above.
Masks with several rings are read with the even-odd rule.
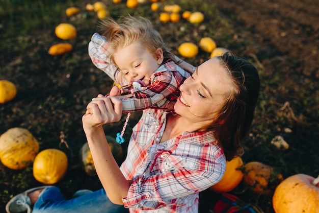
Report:
[[[108,48],[107,39],[94,33],[89,43],[89,56],[93,64],[121,86],[127,85],[120,70],[110,61]],[[167,61],[152,74],[149,86],[131,89],[133,96],[122,99],[123,112],[141,111],[147,108],[173,111],[180,94],[179,86],[189,76],[188,72],[173,61]]]

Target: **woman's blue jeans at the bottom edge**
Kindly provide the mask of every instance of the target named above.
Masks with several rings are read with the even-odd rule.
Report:
[[[127,213],[124,205],[112,203],[104,189],[85,194],[70,200],[65,200],[58,187],[48,187],[43,190],[33,207],[32,213]]]

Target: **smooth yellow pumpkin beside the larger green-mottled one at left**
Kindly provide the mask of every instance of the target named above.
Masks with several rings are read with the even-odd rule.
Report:
[[[55,184],[60,181],[68,168],[66,154],[58,149],[45,149],[34,159],[33,176],[44,184]]]

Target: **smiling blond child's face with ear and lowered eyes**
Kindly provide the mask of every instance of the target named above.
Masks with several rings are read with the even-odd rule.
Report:
[[[129,83],[139,79],[149,85],[151,75],[163,62],[163,51],[157,49],[151,54],[140,42],[133,42],[116,51],[114,62]]]

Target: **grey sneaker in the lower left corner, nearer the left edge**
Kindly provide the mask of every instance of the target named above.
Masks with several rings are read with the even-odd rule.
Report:
[[[36,190],[41,190],[51,186],[39,186],[35,188],[31,188],[30,190],[26,190],[25,192],[14,196],[6,205],[7,213],[20,213],[27,212],[31,213],[31,199],[28,196],[29,193],[34,192]]]

